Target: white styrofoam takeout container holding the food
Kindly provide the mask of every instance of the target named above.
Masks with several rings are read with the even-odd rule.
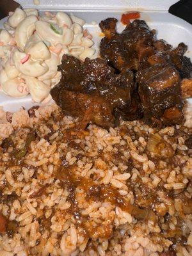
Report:
[[[163,38],[173,47],[180,42],[188,45],[186,56],[192,59],[192,26],[188,22],[168,13],[168,8],[175,3],[175,0],[66,0],[66,1],[47,1],[41,0],[39,5],[33,4],[33,0],[18,1],[23,8],[36,8],[40,12],[51,10],[56,12],[62,10],[67,13],[74,13],[86,21],[84,28],[87,28],[93,35],[95,49],[99,49],[100,42],[100,20],[108,17],[115,17],[120,20],[122,13],[129,10],[140,11],[141,18],[147,22],[151,29],[157,30],[157,38]],[[0,20],[0,28],[3,28],[3,22],[6,18]],[[118,22],[118,31],[122,31],[124,26]],[[192,99],[189,99],[192,104]],[[24,98],[12,98],[0,92],[0,106],[6,111],[17,111],[21,107],[31,108],[37,103],[33,103],[30,96]]]

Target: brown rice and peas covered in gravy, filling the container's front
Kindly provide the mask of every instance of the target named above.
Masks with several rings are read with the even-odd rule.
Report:
[[[191,255],[190,128],[0,114],[0,255]]]

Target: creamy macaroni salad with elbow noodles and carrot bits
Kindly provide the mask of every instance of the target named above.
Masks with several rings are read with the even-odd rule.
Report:
[[[48,102],[61,74],[57,67],[63,54],[84,60],[92,57],[92,36],[84,20],[36,9],[11,12],[0,30],[0,88],[12,97],[31,94],[35,102]]]

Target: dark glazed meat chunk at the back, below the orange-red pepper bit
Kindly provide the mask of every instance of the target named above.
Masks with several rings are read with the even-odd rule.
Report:
[[[100,55],[118,70],[138,70],[140,63],[155,53],[154,31],[150,31],[144,20],[134,20],[118,34],[116,22],[109,18],[99,24],[105,35],[100,42]]]

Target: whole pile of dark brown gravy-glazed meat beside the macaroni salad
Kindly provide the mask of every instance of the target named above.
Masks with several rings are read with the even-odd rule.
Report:
[[[144,20],[134,20],[116,32],[116,19],[99,24],[105,37],[100,56],[84,63],[64,55],[60,83],[52,98],[67,115],[78,116],[83,127],[102,127],[124,120],[143,120],[150,125],[180,124],[182,98],[192,95],[192,64],[183,56],[187,46],[175,49],[156,40],[156,31]]]

